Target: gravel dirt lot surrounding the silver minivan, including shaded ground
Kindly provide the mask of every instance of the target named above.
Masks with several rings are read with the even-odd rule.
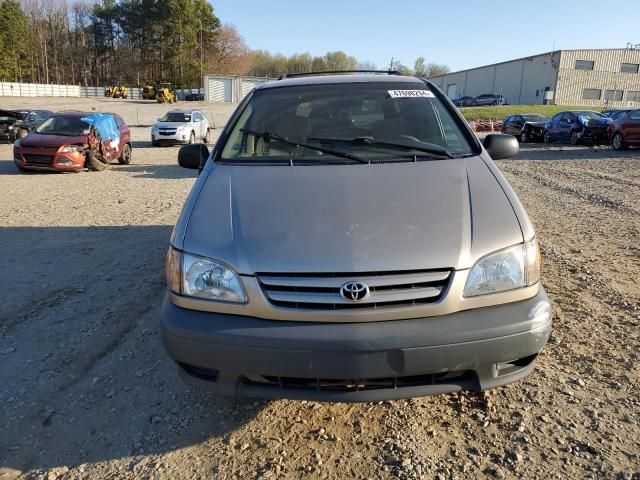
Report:
[[[132,124],[166,110],[93,105]],[[162,261],[195,174],[147,137],[135,128],[132,164],[102,173],[19,174],[0,145],[0,480],[640,479],[640,152],[529,145],[499,162],[536,225],[554,303],[531,376],[487,394],[327,405],[179,380],[158,335]]]

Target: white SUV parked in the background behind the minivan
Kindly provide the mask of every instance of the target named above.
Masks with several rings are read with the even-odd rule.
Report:
[[[151,127],[151,144],[195,143],[202,140],[211,142],[209,120],[199,110],[169,110]]]

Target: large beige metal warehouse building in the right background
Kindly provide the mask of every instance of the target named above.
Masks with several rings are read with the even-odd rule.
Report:
[[[492,93],[514,105],[640,107],[640,50],[557,50],[430,80],[450,98]]]

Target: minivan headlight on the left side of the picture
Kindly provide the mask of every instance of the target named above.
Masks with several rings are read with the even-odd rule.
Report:
[[[218,302],[247,302],[238,276],[215,260],[169,248],[165,273],[167,285],[175,293]]]

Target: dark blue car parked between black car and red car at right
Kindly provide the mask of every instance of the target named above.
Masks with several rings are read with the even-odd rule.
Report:
[[[571,110],[554,115],[544,124],[544,143],[569,142],[602,145],[609,142],[613,120],[590,110]]]

